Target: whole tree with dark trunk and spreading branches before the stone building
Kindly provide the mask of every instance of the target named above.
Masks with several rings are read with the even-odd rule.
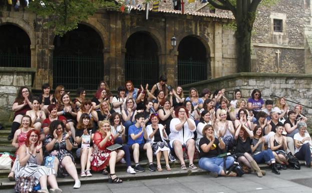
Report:
[[[216,9],[232,12],[235,18],[237,72],[251,70],[251,31],[259,4],[272,6],[278,0],[207,0]]]

